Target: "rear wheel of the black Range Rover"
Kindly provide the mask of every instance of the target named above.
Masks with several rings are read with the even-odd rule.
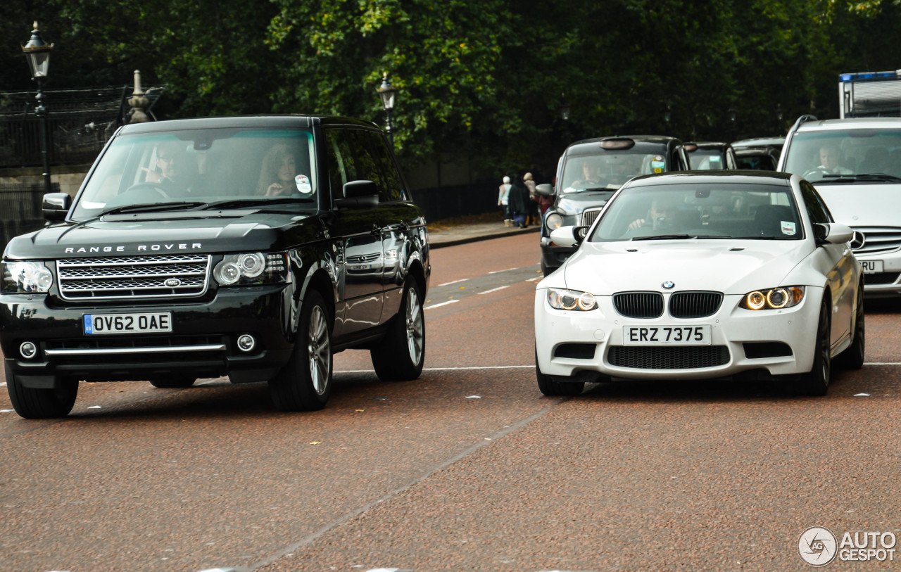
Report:
[[[409,381],[423,373],[425,362],[425,314],[423,288],[411,277],[404,286],[400,311],[385,339],[369,350],[372,366],[382,381]]]

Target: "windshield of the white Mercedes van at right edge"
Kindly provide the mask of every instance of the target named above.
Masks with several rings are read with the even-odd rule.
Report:
[[[785,170],[816,184],[901,182],[901,130],[796,132]]]

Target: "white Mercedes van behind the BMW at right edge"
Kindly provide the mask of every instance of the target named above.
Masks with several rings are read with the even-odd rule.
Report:
[[[851,227],[851,250],[868,297],[901,295],[901,118],[798,119],[778,170],[814,184],[835,220]]]

